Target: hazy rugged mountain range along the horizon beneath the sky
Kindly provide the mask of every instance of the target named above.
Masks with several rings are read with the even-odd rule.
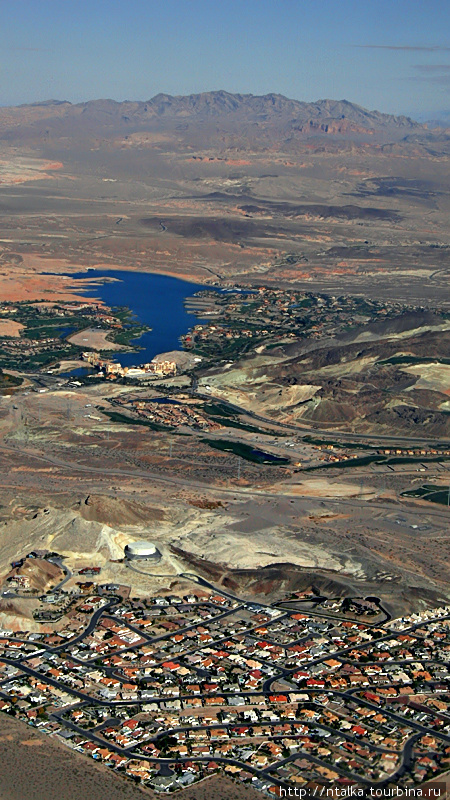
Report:
[[[406,116],[368,111],[347,100],[300,102],[280,94],[256,96],[225,91],[187,96],[157,94],[148,101],[48,100],[0,109],[0,141],[23,142],[92,137],[109,139],[139,132],[175,133],[184,140],[239,140],[286,144],[311,138],[393,143],[426,126]],[[227,142],[229,143],[229,142]]]

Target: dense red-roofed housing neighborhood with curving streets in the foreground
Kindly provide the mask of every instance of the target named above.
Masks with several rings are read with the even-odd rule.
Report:
[[[131,599],[78,577],[52,591],[62,626],[0,631],[0,710],[68,747],[161,792],[220,771],[283,796],[448,770],[449,606],[391,619],[377,598],[264,605],[196,583]]]

